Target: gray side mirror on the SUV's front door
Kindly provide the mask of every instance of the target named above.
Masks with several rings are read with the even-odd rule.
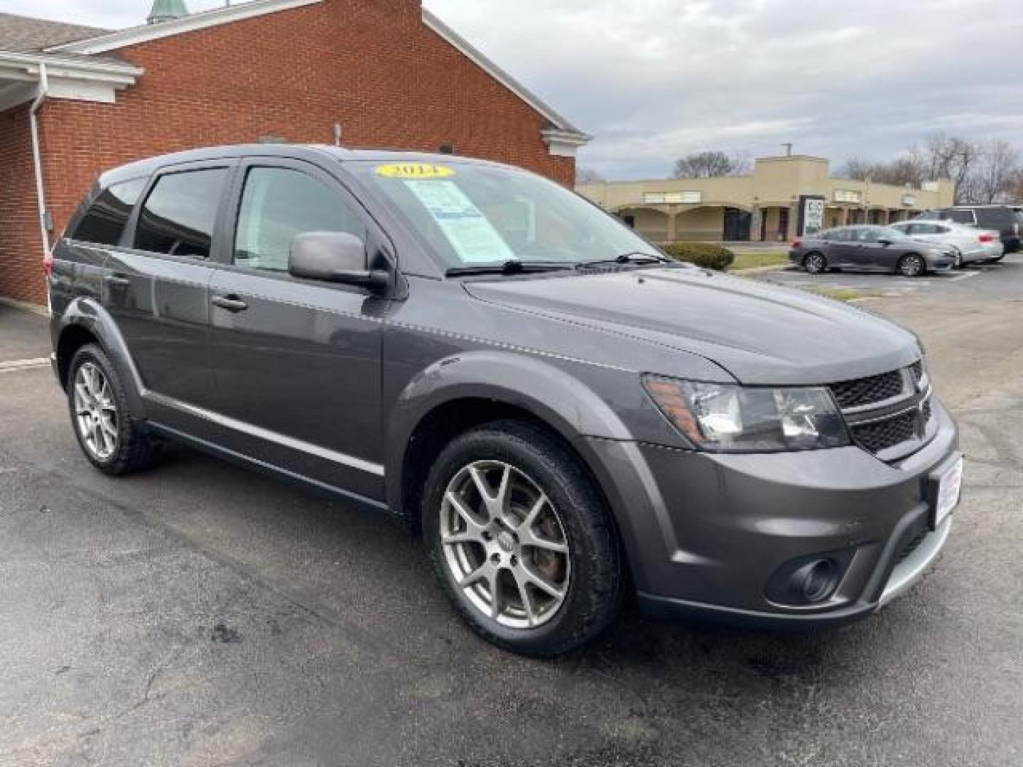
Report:
[[[293,277],[360,285],[382,290],[391,282],[384,269],[369,269],[366,243],[348,232],[306,232],[292,242],[287,272]]]

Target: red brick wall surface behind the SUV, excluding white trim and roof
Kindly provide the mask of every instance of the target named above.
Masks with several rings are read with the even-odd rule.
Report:
[[[420,12],[415,0],[326,0],[120,50],[145,74],[116,104],[50,100],[41,110],[54,236],[102,170],[261,136],[330,143],[335,123],[349,146],[435,151],[450,141],[459,154],[571,185],[575,161],[550,156],[540,136],[546,120],[427,28]],[[15,118],[12,131],[0,116],[0,152],[16,154],[0,169],[12,177],[0,194],[16,196],[0,249],[23,255],[0,250],[0,292],[44,303],[28,117]]]

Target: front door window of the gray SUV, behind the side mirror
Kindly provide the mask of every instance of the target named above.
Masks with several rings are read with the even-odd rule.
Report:
[[[305,232],[349,232],[365,240],[366,228],[341,194],[300,171],[253,168],[238,209],[234,263],[287,271],[292,241]]]

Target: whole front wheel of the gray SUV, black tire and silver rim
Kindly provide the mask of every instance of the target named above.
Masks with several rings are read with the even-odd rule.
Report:
[[[609,511],[578,459],[538,426],[494,421],[453,440],[430,470],[421,514],[441,588],[498,647],[551,658],[591,641],[620,610],[624,563]]]

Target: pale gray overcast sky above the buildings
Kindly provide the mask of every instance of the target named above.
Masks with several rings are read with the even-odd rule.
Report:
[[[221,5],[187,0],[191,10]],[[104,27],[149,0],[0,0]],[[929,133],[1023,143],[1018,0],[426,0],[595,140],[609,178],[701,149],[887,159]]]

